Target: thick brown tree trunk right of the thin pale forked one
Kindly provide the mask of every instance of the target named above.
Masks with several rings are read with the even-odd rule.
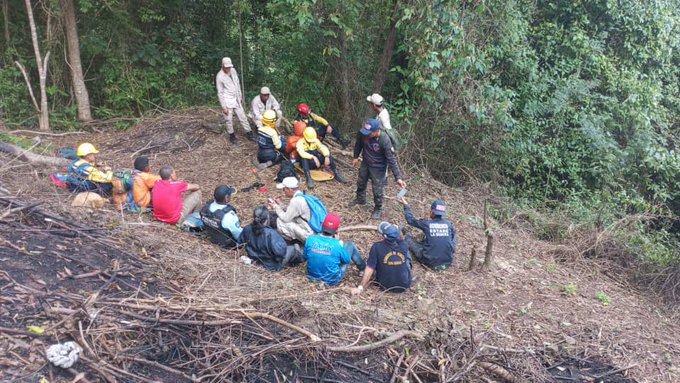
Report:
[[[73,0],[59,0],[59,4],[64,18],[64,29],[66,30],[68,64],[71,68],[73,91],[76,96],[76,103],[78,104],[78,120],[83,122],[92,121],[90,96],[85,86],[83,67],[80,62],[80,40],[78,39],[75,7],[73,6]]]

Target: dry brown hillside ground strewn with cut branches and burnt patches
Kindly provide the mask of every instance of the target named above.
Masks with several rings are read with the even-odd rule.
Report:
[[[99,161],[114,169],[131,168],[134,157],[144,154],[150,158],[154,171],[169,164],[180,179],[201,185],[204,202],[219,184],[226,183],[241,190],[259,180],[265,184],[266,191],[257,188],[239,191],[232,200],[242,224],[246,225],[255,206],[264,204],[267,198],[280,196],[273,180],[278,167],[266,169],[256,178],[252,172],[256,144],[245,139],[240,127],[235,128],[239,144],[229,144],[226,135],[219,132],[222,125],[218,113],[193,109],[145,119],[127,131],[110,126],[99,127],[98,132],[47,137],[42,141],[43,145],[51,144],[54,152],[60,147],[91,142],[100,150]],[[54,152],[45,154],[53,155]],[[377,225],[379,221],[370,220],[370,202],[364,209],[347,207],[354,196],[357,172],[348,167],[350,157],[337,157],[339,167],[350,183],[317,183],[311,192],[324,201],[330,212],[342,217],[343,226]],[[427,216],[430,203],[435,199],[447,203],[448,218],[454,223],[459,236],[457,266],[435,273],[416,264],[414,274],[418,279],[410,291],[386,294],[371,287],[361,296],[353,297],[349,288],[360,281],[356,269],[348,272],[339,287],[327,289],[310,284],[304,267],[288,268],[279,273],[266,272],[256,266],[242,264],[239,257],[244,255],[243,250],[221,250],[205,238],[155,222],[148,215],[121,214],[110,204],[100,210],[71,207],[72,196],[54,188],[47,178],[50,172],[64,169],[34,167],[13,161],[4,154],[0,158],[5,164],[0,165],[1,186],[7,195],[25,203],[39,201],[41,209],[80,225],[78,230],[81,234],[74,247],[70,248],[69,257],[80,258],[89,254],[88,259],[99,262],[101,268],[108,268],[107,262],[118,256],[123,257],[121,262],[135,257],[141,260],[131,262],[133,265],[142,262],[135,269],[142,277],[130,272],[125,282],[127,286],[138,286],[136,292],[118,284],[117,294],[129,294],[122,298],[107,295],[105,300],[99,298],[92,304],[92,307],[104,310],[102,313],[109,313],[109,327],[99,323],[98,332],[90,333],[88,331],[97,328],[92,319],[93,323],[88,328],[78,331],[78,326],[75,326],[64,330],[64,334],[80,335],[79,340],[89,339],[92,347],[96,346],[96,357],[90,355],[91,360],[106,360],[108,365],[133,372],[135,376],[151,379],[169,374],[166,376],[172,378],[158,379],[184,381],[198,380],[196,376],[200,378],[204,374],[202,381],[263,382],[284,381],[284,376],[299,382],[680,381],[680,372],[676,368],[676,364],[680,363],[678,312],[632,286],[625,278],[607,273],[602,265],[592,260],[559,256],[564,253],[564,244],[537,240],[530,230],[525,229],[527,226],[520,218],[504,222],[490,219],[495,235],[496,262],[489,271],[467,271],[472,248],[477,248],[478,258],[483,258],[486,243],[482,216],[484,201],[490,196],[481,186],[451,188],[431,180],[427,174],[407,168],[404,171],[409,189],[407,199],[416,216]],[[398,186],[390,176],[383,219],[405,224],[401,205],[395,200],[397,192]],[[16,218],[22,225],[28,225],[21,219],[26,218]],[[7,221],[7,218],[4,220]],[[55,288],[61,286],[59,288],[66,289],[59,285],[65,277],[54,276],[57,272],[54,267],[61,270],[65,266],[45,261],[47,266],[40,267],[34,263],[39,255],[32,253],[33,248],[40,245],[44,248],[45,241],[50,246],[51,239],[43,238],[42,242],[34,243],[31,236],[26,236],[28,229],[22,229],[23,234],[18,237],[21,233],[10,226],[11,223],[7,222],[0,226],[0,262],[4,273],[17,286],[24,284],[44,292],[54,283]],[[107,231],[102,237],[83,236],[84,230],[92,228],[106,228]],[[42,230],[42,226],[35,230]],[[364,256],[371,244],[380,239],[376,231],[370,230],[343,232],[341,238],[354,241]],[[93,241],[101,246],[88,248],[94,246]],[[108,254],[107,246],[117,255]],[[42,265],[42,262],[39,263]],[[33,271],[33,266],[29,267],[26,263],[34,266]],[[31,278],[31,272],[42,275],[40,278],[46,284],[33,283],[39,278]],[[49,278],[45,276],[48,274],[51,275]],[[115,274],[111,279],[114,277]],[[100,278],[103,282],[108,280],[105,276]],[[86,280],[82,279],[83,282]],[[3,289],[10,284],[8,282]],[[73,285],[67,290],[76,294],[93,288]],[[103,295],[109,294],[110,289],[106,286],[100,290]],[[20,297],[9,295],[9,290],[3,290],[3,295],[11,304],[17,304]],[[122,307],[121,301],[116,299],[127,302],[127,311],[113,308],[114,305]],[[39,354],[32,343],[28,347],[17,347],[16,344],[23,342],[17,339],[20,335],[3,333],[3,328],[23,328],[40,315],[37,304],[29,302],[21,307],[29,306],[37,311],[17,316],[16,312],[12,313],[12,307],[6,306],[0,316],[0,339],[4,339],[0,341],[0,347],[4,347],[5,351],[14,350],[15,355],[22,356],[15,358],[12,354],[4,354],[0,357],[0,365],[8,366],[4,373],[0,372],[0,377],[2,374],[15,376],[9,375],[13,371],[10,367],[26,373],[32,366],[35,372],[25,381],[37,381],[31,379],[48,375],[53,379],[50,381],[69,381],[72,375],[69,378],[69,374],[44,365],[40,357],[30,357]],[[63,307],[62,311],[68,306]],[[139,310],[138,314],[131,313],[132,310]],[[238,321],[231,319],[233,315],[250,312],[245,310],[276,316],[319,336],[326,346],[331,347],[373,344],[399,331],[420,336],[406,336],[367,351],[333,353],[327,347],[315,346],[304,333],[296,337],[286,332],[292,327],[265,325],[247,315],[245,318],[252,321],[253,327],[247,328],[248,331],[240,329],[242,332],[238,339],[230,338],[224,331],[208,333],[201,326],[192,328],[191,332],[182,332],[178,326],[191,326],[192,323],[160,320],[166,318],[165,315],[177,320],[229,318],[228,326],[233,330],[236,326],[250,323],[241,317]],[[71,319],[81,315],[76,311],[69,311]],[[123,331],[125,326],[144,321],[145,317],[155,317],[156,322],[134,330],[142,335],[134,335],[137,333],[129,329],[131,333]],[[62,319],[60,324],[55,318],[43,318],[41,323],[46,327],[53,326],[55,332],[69,323]],[[82,319],[82,323],[87,323],[86,318]],[[159,340],[160,335],[145,330],[163,323],[170,323],[163,330],[167,331],[163,335],[164,341]],[[182,328],[186,330],[186,327]],[[296,331],[293,328],[292,332]],[[206,341],[206,334],[222,337],[219,339],[225,342],[219,352],[211,351],[210,357],[214,357],[215,362],[209,366],[204,363],[205,359],[201,361],[189,351],[167,352],[162,357],[159,351],[151,358],[145,354],[149,351],[143,347],[152,339],[159,345],[152,344],[151,348],[168,351],[168,347],[160,344],[168,342],[172,347],[180,343],[201,344]],[[255,338],[257,342],[253,340]],[[229,342],[233,343],[230,345]],[[203,352],[206,352],[207,344],[203,343]],[[256,346],[259,348],[254,348]],[[186,347],[186,350],[191,349]],[[253,347],[256,352],[243,351],[250,350],[248,347]],[[133,348],[138,359],[149,359],[145,361],[145,367],[134,367],[133,359],[121,362],[122,359],[117,356],[124,354],[121,350]],[[228,358],[220,359],[222,352]],[[196,362],[189,364],[191,360]],[[163,369],[153,363],[172,368]],[[104,372],[98,371],[94,365],[87,364],[83,371],[90,376],[105,375],[104,372],[125,375],[106,364],[98,367]],[[323,374],[320,374],[322,370]],[[177,371],[183,371],[184,375],[178,375]],[[128,378],[129,381],[137,381]]]

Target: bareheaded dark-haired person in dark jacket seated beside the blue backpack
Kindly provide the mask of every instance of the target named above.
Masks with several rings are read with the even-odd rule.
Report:
[[[243,228],[239,243],[246,244],[248,258],[269,271],[301,263],[300,246],[288,245],[281,234],[269,226],[269,219],[267,207],[257,206],[253,210],[253,223]]]

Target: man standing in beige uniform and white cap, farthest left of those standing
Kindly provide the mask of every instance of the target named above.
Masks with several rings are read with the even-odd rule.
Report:
[[[243,110],[243,95],[241,94],[241,83],[238,80],[238,74],[231,63],[229,57],[222,59],[222,70],[217,73],[215,77],[215,85],[217,86],[217,97],[220,100],[222,111],[224,112],[224,119],[227,122],[227,132],[229,133],[229,141],[235,144],[236,135],[234,134],[233,116],[236,113],[239,123],[246,131],[246,135],[250,141],[255,141],[253,131],[248,125],[246,113]]]

